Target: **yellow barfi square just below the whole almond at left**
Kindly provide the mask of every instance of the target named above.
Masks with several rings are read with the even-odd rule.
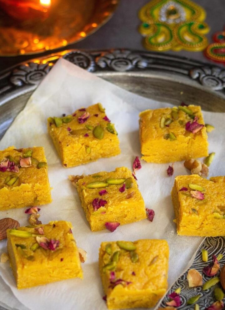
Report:
[[[7,249],[17,288],[83,278],[79,252],[66,221],[7,230]]]

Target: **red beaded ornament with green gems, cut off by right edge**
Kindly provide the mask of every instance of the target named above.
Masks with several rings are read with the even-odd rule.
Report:
[[[205,55],[207,58],[225,65],[225,28],[224,31],[216,32],[212,39],[215,43],[207,46]]]

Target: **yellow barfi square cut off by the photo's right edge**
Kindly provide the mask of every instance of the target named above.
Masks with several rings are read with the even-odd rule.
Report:
[[[178,235],[225,236],[225,177],[175,178],[172,201]]]

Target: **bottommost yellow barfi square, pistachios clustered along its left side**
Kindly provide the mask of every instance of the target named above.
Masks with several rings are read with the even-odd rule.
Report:
[[[167,291],[165,240],[102,242],[99,269],[109,309],[149,308]]]

